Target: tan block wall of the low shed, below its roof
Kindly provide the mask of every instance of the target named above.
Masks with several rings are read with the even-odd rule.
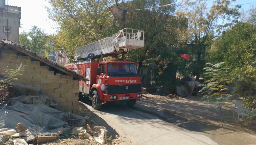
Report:
[[[0,49],[0,75],[4,77],[4,68],[16,69],[22,62],[23,75],[18,76],[20,83],[40,88],[52,100],[57,101],[65,111],[77,114],[79,80],[69,75],[54,75],[48,66],[40,66],[40,61],[33,61],[29,56],[17,55],[16,50]]]

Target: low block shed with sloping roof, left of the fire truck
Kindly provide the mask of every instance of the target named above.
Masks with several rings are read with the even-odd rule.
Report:
[[[8,39],[0,41],[0,77],[6,67],[17,69],[21,62],[25,71],[18,76],[20,83],[40,88],[65,111],[77,113],[79,81],[89,79]]]

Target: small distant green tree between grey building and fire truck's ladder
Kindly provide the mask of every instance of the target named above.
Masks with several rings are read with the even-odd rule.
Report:
[[[26,49],[34,51],[40,55],[44,55],[48,50],[49,39],[44,30],[33,26],[29,32],[21,32],[19,35],[19,43],[26,47]]]

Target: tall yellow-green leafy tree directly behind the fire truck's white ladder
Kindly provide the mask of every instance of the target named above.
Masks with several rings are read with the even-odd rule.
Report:
[[[72,61],[75,48],[100,40],[108,33],[111,23],[111,0],[48,0],[49,18],[60,26],[55,37],[55,48]]]

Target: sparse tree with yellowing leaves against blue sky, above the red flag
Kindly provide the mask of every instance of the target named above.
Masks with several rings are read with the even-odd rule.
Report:
[[[196,79],[199,79],[203,71],[205,49],[219,36],[222,28],[234,24],[240,15],[239,6],[228,7],[231,0],[215,0],[210,8],[207,8],[208,3],[208,0],[185,1],[180,11],[188,18],[188,43],[193,45],[195,52],[196,63],[193,68]]]

